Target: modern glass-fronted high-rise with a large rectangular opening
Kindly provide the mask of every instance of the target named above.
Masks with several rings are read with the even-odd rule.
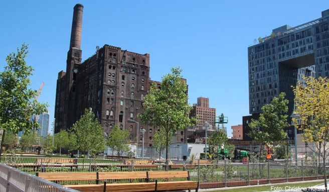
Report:
[[[293,112],[291,86],[303,76],[329,76],[329,10],[321,18],[296,27],[284,25],[268,37],[248,47],[249,113],[243,117],[243,135],[247,122],[261,113],[261,107],[286,93],[288,115]],[[244,138],[245,140],[245,138]],[[248,138],[250,140],[250,138]]]

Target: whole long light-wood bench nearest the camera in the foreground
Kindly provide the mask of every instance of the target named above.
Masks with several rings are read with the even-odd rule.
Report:
[[[63,180],[96,180],[96,184],[69,184],[65,187],[82,192],[89,191],[161,191],[161,190],[189,190],[198,191],[198,182],[191,181],[188,171],[136,171],[136,172],[63,172],[37,173],[37,176],[50,181]],[[182,181],[160,181],[157,179],[186,178]],[[126,180],[124,183],[111,183]],[[137,182],[133,182],[136,181]],[[98,184],[103,181],[103,184]]]

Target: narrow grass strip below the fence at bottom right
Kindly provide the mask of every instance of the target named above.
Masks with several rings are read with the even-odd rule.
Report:
[[[252,186],[252,187],[241,187],[241,188],[227,188],[227,189],[220,189],[220,190],[214,190],[214,192],[254,192],[254,191],[271,191],[271,186],[273,187],[282,187],[281,190],[284,190],[286,186],[288,187],[309,187],[314,186],[317,184],[321,184],[323,181],[313,181],[313,182],[302,182],[302,183],[286,183],[286,184],[272,184],[272,185],[266,185],[266,186]],[[274,190],[272,188],[272,190]]]

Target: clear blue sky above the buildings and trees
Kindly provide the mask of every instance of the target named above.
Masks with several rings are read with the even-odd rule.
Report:
[[[39,102],[54,117],[58,72],[66,69],[73,7],[84,5],[83,60],[104,44],[150,54],[150,77],[180,66],[189,103],[207,97],[231,126],[249,115],[247,47],[272,29],[321,17],[327,0],[309,1],[9,1],[0,2],[0,71],[5,58],[29,44],[32,88],[45,83]]]

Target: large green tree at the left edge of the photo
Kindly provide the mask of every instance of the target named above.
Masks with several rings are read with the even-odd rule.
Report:
[[[17,53],[7,56],[7,66],[0,72],[0,130],[3,132],[0,146],[4,143],[6,131],[14,134],[23,130],[31,132],[37,127],[37,122],[29,121],[30,117],[47,111],[48,105],[35,100],[37,90],[28,88],[33,68],[26,64],[27,54],[28,46],[23,44]],[[2,147],[0,157],[1,154]]]

